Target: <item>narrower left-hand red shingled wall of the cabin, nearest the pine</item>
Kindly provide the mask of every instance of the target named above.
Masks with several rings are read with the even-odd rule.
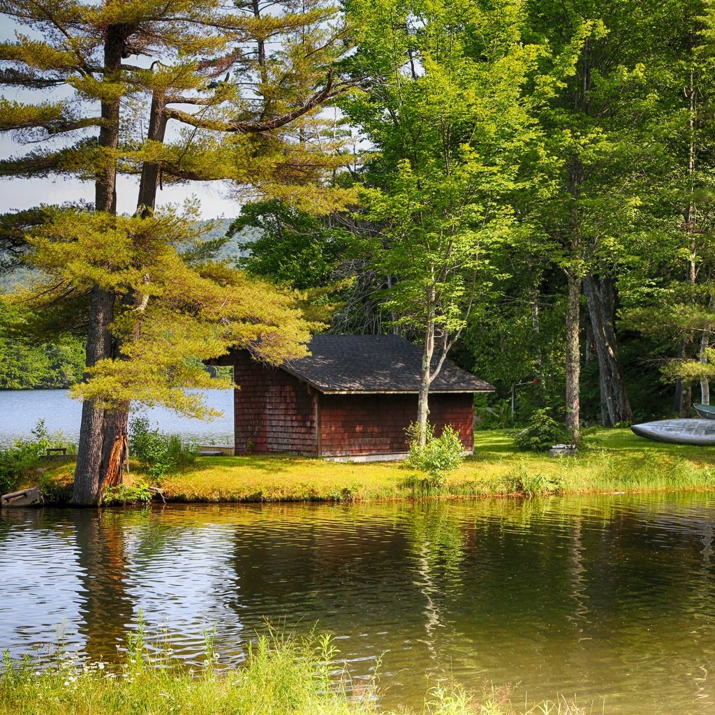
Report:
[[[284,370],[257,363],[245,351],[223,363],[234,366],[236,453],[317,453],[315,392]]]

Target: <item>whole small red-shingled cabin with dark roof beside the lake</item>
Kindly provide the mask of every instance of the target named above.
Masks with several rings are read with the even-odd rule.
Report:
[[[315,335],[310,355],[272,368],[247,350],[221,358],[235,382],[236,454],[287,452],[332,460],[404,458],[417,419],[422,349],[397,335]],[[430,389],[430,423],[474,447],[474,393],[494,388],[445,361]]]

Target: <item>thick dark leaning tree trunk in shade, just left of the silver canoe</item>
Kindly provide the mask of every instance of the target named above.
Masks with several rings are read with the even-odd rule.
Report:
[[[588,316],[591,321],[593,342],[598,357],[598,381],[601,390],[601,424],[613,427],[619,422],[631,422],[633,411],[628,401],[626,381],[621,362],[613,320],[616,314],[616,294],[613,281],[608,277],[587,275],[583,278]]]

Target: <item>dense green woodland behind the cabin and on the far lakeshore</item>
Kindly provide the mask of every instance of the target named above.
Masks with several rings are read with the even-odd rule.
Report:
[[[317,211],[295,197],[247,202],[204,235],[225,238],[213,258],[275,283],[318,330],[416,342],[427,313],[415,295],[443,270],[438,337],[458,338],[450,357],[497,388],[488,423],[509,422],[513,385],[518,420],[546,406],[568,424],[575,399],[584,425],[708,401],[711,3],[346,0],[341,11],[350,49],[330,82],[335,72],[352,91],[321,109],[340,117],[342,141],[321,180],[352,198]],[[312,131],[303,124],[300,141]],[[1,288],[26,275],[12,267]],[[48,315],[44,337],[21,305],[0,311],[0,388],[82,378],[86,310],[64,332],[67,313]]]

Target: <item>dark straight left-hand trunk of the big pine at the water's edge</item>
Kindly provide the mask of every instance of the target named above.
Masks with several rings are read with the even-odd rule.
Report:
[[[124,51],[124,26],[110,25],[104,40],[104,81],[116,81],[121,72]],[[121,100],[102,102],[102,126],[99,129],[99,150],[107,150],[105,162],[95,181],[94,210],[117,213],[117,169],[112,149],[119,146],[119,110]],[[114,295],[99,285],[92,289],[87,334],[85,365],[92,368],[99,360],[108,358],[111,350],[109,325],[112,323]],[[74,470],[72,503],[76,505],[99,504],[102,498],[102,450],[104,443],[104,409],[97,400],[82,403],[82,420],[79,426],[77,466]]]

